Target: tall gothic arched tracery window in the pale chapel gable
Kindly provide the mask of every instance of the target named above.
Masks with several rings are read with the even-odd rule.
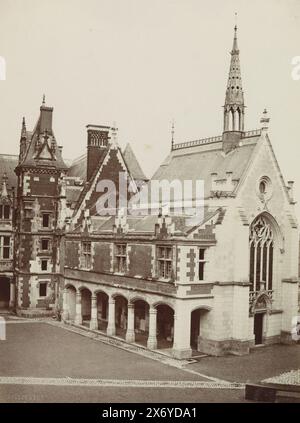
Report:
[[[271,290],[273,282],[274,233],[259,216],[250,229],[250,291]]]

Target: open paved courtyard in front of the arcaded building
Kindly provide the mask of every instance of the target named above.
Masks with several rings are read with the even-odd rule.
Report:
[[[300,367],[299,345],[180,368],[47,322],[6,318],[0,402],[244,402],[244,382]]]

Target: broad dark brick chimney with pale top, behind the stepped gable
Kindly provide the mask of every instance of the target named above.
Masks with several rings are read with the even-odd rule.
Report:
[[[87,125],[87,182],[108,149],[109,131],[109,126]]]

